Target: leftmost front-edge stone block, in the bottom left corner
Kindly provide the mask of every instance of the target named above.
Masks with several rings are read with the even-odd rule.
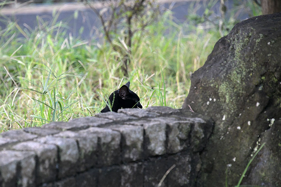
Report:
[[[0,151],[2,187],[35,187],[35,154],[30,151]]]

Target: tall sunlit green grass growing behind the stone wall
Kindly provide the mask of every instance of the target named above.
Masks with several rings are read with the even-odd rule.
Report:
[[[181,108],[190,74],[228,32],[209,22],[176,24],[166,11],[133,36],[124,77],[120,61],[124,53],[106,42],[66,37],[67,26],[57,18],[53,15],[51,22],[44,22],[37,17],[34,30],[15,22],[0,29],[0,132],[91,116],[127,81],[144,108]],[[235,22],[226,23],[232,28]],[[113,44],[128,50],[120,38],[116,36]]]

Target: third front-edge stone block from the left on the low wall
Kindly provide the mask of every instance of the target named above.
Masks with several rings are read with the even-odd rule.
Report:
[[[58,178],[63,178],[67,175],[74,175],[77,170],[77,163],[79,159],[78,146],[72,138],[62,137],[41,137],[35,139],[40,143],[54,144],[59,148],[59,173]]]

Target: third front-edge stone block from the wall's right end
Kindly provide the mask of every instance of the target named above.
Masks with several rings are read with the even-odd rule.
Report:
[[[160,122],[149,122],[143,124],[144,147],[146,156],[163,155],[166,153],[166,124]]]

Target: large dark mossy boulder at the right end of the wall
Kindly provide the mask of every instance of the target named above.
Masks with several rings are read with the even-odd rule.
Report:
[[[242,183],[281,186],[281,13],[240,22],[215,44],[191,76],[190,107],[214,121],[197,186],[237,185],[264,142]]]

